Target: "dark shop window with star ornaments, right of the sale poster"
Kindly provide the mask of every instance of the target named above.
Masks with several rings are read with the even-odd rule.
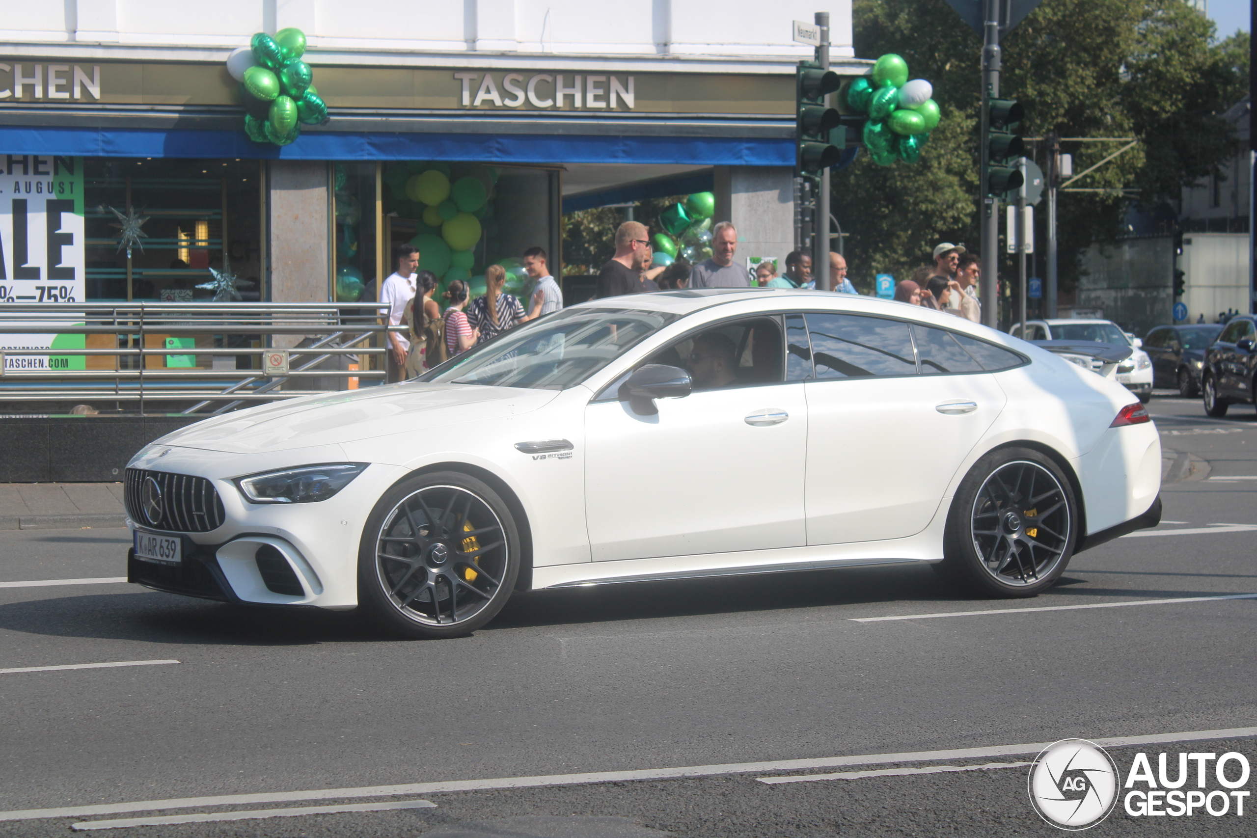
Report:
[[[260,171],[244,160],[84,160],[88,302],[265,299]],[[129,258],[118,215],[147,219]]]

